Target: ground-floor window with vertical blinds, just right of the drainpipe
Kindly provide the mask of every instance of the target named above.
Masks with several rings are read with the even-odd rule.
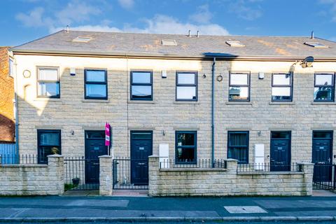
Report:
[[[228,132],[228,158],[248,163],[248,132]]]

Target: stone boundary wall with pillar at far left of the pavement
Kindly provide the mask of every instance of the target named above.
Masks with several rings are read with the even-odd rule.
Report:
[[[62,155],[49,155],[48,165],[0,165],[0,195],[62,195],[63,193]]]

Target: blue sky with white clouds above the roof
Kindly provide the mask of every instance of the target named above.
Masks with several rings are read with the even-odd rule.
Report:
[[[1,0],[0,45],[59,29],[309,36],[336,41],[336,0]]]

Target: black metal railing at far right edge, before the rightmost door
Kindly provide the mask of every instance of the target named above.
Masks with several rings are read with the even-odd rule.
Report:
[[[313,189],[336,190],[336,164],[315,164]]]

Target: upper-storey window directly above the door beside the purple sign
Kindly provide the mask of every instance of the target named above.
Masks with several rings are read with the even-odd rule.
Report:
[[[85,69],[85,99],[107,99],[106,70]]]

